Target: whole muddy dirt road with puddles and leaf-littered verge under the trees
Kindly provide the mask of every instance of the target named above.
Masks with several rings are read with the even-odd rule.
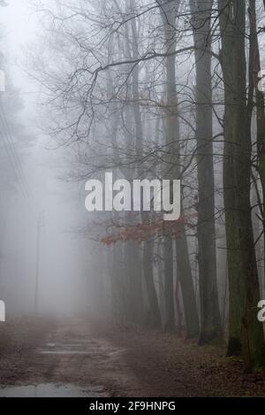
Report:
[[[73,320],[33,337],[0,357],[0,396],[265,396],[263,375],[174,334]]]

